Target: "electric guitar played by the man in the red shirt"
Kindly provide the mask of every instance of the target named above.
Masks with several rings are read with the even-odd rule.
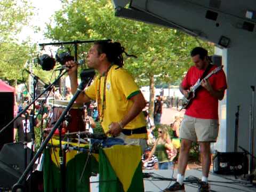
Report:
[[[181,109],[186,109],[188,107],[188,105],[191,103],[191,101],[195,98],[195,94],[196,94],[196,90],[198,89],[198,87],[201,86],[201,83],[203,80],[206,80],[207,78],[211,77],[213,74],[218,73],[221,69],[223,68],[223,66],[217,67],[215,69],[213,69],[208,75],[206,75],[206,77],[204,77],[201,81],[200,78],[197,80],[197,82],[195,83],[195,85],[191,86],[188,92],[188,97],[186,98],[185,96],[182,98],[181,100]],[[181,110],[180,109],[180,110]]]

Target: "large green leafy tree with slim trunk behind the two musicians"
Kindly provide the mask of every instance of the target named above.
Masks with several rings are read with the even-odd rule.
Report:
[[[111,38],[121,42],[128,53],[138,56],[138,59],[126,58],[124,67],[140,85],[150,86],[150,116],[153,115],[154,82],[181,79],[189,67],[190,48],[198,46],[198,42],[205,44],[175,29],[117,18],[107,0],[62,2],[63,9],[53,18],[55,26],[47,26],[47,37],[59,41]]]

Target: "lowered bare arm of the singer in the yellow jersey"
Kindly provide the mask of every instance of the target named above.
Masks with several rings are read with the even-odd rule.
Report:
[[[146,106],[146,101],[142,95],[142,93],[138,93],[130,98],[133,101],[133,105],[131,109],[127,112],[124,118],[120,122],[112,122],[110,124],[109,132],[113,136],[119,135],[122,131],[123,127],[127,125],[132,119],[134,119],[137,115],[139,115],[143,108]]]

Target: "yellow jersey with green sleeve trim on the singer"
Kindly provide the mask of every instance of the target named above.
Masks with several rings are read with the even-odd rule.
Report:
[[[99,114],[103,114],[101,125],[105,133],[112,122],[121,121],[133,105],[130,99],[140,93],[134,78],[124,68],[117,65],[110,67],[105,85],[105,74],[95,77],[93,83],[85,90],[87,97],[96,100]],[[105,94],[104,94],[105,87]],[[103,96],[105,95],[105,101]],[[102,110],[102,105],[103,110]],[[134,130],[146,126],[142,112],[129,122],[124,129]],[[132,134],[129,138],[147,138],[147,133]]]

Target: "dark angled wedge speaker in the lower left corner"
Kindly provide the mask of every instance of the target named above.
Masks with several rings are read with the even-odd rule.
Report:
[[[27,148],[27,163],[32,150]],[[0,187],[11,188],[25,170],[23,143],[6,143],[0,152]]]

